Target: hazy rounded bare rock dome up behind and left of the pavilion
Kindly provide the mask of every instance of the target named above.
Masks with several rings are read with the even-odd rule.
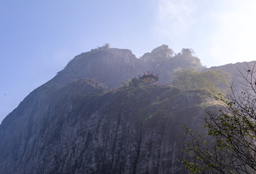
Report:
[[[95,79],[113,88],[137,76],[139,62],[130,50],[86,52],[70,61],[49,83],[67,85],[74,79]]]

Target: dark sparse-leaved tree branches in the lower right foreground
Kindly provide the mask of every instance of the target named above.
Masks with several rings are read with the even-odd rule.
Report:
[[[255,65],[240,71],[242,93],[230,87],[218,112],[206,111],[206,132],[186,128],[192,141],[183,163],[191,173],[256,173],[256,78]]]

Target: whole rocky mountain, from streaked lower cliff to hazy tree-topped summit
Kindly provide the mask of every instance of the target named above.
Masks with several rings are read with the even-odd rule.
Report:
[[[203,91],[122,85],[143,71],[171,83],[175,69],[201,69],[193,50],[162,45],[82,53],[32,91],[0,125],[0,173],[187,173],[183,129],[220,105]],[[114,88],[114,89],[113,89]]]

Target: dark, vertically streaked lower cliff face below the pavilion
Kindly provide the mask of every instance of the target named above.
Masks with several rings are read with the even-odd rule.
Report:
[[[198,127],[212,99],[164,86],[105,90],[82,80],[28,95],[1,124],[0,173],[186,173],[181,127]]]

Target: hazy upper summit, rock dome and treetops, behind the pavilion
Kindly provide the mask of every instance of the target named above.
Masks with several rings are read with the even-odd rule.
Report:
[[[95,79],[110,88],[121,86],[127,79],[142,75],[143,71],[159,74],[159,83],[171,84],[174,69],[201,67],[200,59],[191,52],[173,51],[162,45],[137,59],[130,50],[107,49],[85,52],[76,56],[50,83],[67,85],[74,79]]]

